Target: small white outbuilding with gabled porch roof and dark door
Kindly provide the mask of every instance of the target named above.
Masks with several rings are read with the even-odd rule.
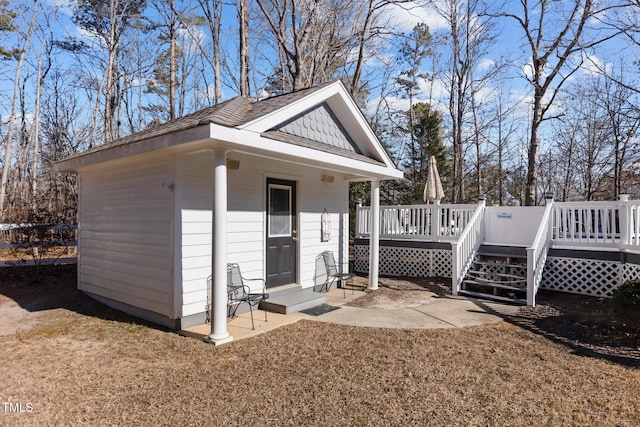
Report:
[[[78,288],[180,329],[204,323],[212,276],[220,343],[227,262],[270,289],[312,287],[319,253],[348,263],[349,183],[370,181],[375,206],[379,182],[402,177],[340,82],[236,97],[56,168],[78,174]]]

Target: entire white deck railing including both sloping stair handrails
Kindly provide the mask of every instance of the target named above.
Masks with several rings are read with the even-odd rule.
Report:
[[[380,238],[451,243],[452,292],[485,239],[485,205],[414,205],[380,208]],[[370,208],[358,206],[356,237],[370,234]],[[534,221],[535,222],[535,221]],[[549,249],[640,253],[640,200],[553,202],[527,246],[527,304],[535,305]],[[487,231],[488,232],[488,231]],[[500,242],[492,242],[499,244]]]

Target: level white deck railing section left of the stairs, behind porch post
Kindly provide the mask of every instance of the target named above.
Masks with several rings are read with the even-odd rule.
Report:
[[[456,241],[477,205],[409,205],[380,207],[380,238]],[[356,237],[371,234],[371,208],[356,207]]]

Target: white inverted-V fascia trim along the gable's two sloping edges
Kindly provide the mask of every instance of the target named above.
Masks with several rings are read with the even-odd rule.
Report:
[[[327,102],[333,112],[338,115],[347,133],[354,138],[363,152],[381,160],[389,167],[394,167],[393,160],[382,147],[382,143],[371,130],[362,111],[349,96],[341,81],[319,89],[279,110],[238,126],[238,128],[262,133],[323,102]]]

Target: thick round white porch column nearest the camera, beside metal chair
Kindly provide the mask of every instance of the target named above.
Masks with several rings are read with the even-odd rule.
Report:
[[[213,151],[213,236],[211,259],[211,333],[207,341],[224,344],[233,340],[227,331],[227,153]]]

